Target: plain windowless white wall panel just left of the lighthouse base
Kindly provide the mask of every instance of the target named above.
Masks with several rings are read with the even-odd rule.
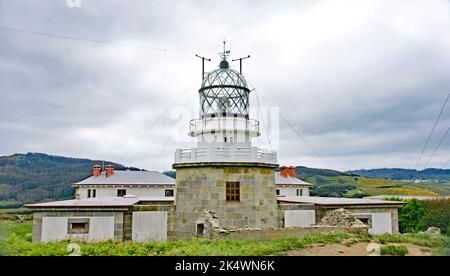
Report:
[[[131,234],[136,242],[167,241],[167,212],[133,212]]]

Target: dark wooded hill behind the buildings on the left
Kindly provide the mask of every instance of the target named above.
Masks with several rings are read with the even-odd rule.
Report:
[[[92,166],[103,160],[53,156],[43,153],[13,154],[0,157],[0,208],[19,207],[26,203],[72,198],[69,184],[92,174]],[[121,164],[117,170],[139,170]]]

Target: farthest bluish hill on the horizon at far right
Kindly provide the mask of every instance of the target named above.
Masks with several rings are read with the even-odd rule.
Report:
[[[353,170],[346,173],[357,174],[366,177],[380,178],[380,179],[392,179],[392,180],[437,180],[437,181],[449,181],[450,170],[444,169],[425,169],[425,170],[412,170],[412,169],[370,169],[370,170]]]

